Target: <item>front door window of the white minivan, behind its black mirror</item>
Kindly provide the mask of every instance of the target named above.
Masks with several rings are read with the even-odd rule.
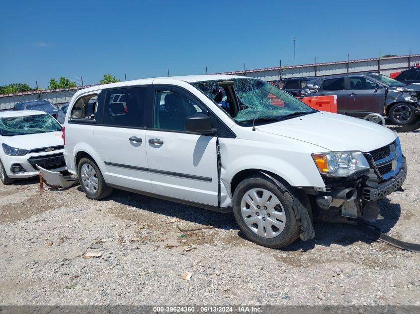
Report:
[[[207,110],[190,96],[171,89],[156,90],[154,128],[185,131],[185,118]]]

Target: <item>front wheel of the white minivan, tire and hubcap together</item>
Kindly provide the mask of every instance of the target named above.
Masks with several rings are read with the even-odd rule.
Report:
[[[300,234],[293,204],[299,201],[280,184],[251,176],[233,195],[233,212],[241,231],[253,242],[268,248],[283,248]]]

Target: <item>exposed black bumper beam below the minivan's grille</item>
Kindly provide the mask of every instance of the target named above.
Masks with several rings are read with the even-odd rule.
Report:
[[[363,188],[363,199],[367,201],[377,201],[384,198],[392,192],[398,190],[407,178],[407,164],[401,165],[400,171],[384,183],[379,184],[376,188]]]

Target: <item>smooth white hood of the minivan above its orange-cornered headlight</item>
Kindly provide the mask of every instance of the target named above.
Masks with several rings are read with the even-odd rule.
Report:
[[[395,133],[384,126],[328,112],[317,112],[256,128],[331,151],[369,152],[396,138]]]

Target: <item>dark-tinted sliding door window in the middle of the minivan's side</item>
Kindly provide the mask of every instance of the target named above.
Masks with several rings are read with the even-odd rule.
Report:
[[[144,127],[147,86],[111,89],[106,92],[103,124]]]

